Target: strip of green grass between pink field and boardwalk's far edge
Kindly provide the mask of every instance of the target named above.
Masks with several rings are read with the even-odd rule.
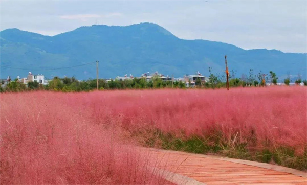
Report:
[[[148,132],[147,132],[148,133]],[[307,170],[307,146],[303,155],[296,155],[295,149],[286,146],[276,146],[271,148],[249,148],[246,143],[239,140],[225,140],[219,133],[213,133],[210,137],[205,136],[184,136],[172,133],[163,133],[155,130],[149,137],[147,136],[144,147],[158,149],[183,151],[196,154],[210,154],[236,159],[257,161],[288,167],[292,169]],[[252,138],[249,138],[248,142]]]

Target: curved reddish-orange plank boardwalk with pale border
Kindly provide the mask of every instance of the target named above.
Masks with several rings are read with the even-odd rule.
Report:
[[[248,160],[149,149],[165,178],[177,184],[305,184],[307,173]],[[167,172],[167,173],[166,173]]]

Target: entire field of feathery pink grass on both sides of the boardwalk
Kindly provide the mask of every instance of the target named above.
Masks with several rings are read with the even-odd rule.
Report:
[[[307,88],[118,90],[0,94],[0,184],[166,183],[134,130],[307,148]],[[251,130],[253,133],[251,133]],[[148,168],[147,168],[148,167]]]

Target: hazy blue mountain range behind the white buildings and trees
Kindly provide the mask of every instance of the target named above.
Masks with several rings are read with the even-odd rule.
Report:
[[[93,25],[55,36],[7,29],[0,32],[0,78],[26,77],[28,72],[78,79],[114,78],[124,74],[140,76],[144,72],[182,77],[200,71],[208,76],[224,73],[227,55],[229,70],[240,77],[253,69],[275,72],[279,77],[306,77],[307,54],[277,50],[244,50],[235,45],[208,40],[184,40],[156,24],[131,26]],[[76,66],[62,70],[44,70]],[[11,66],[8,68],[7,66]]]

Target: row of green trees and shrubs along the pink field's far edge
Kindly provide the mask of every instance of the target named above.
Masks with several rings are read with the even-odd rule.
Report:
[[[223,88],[226,87],[226,75],[212,74],[211,68],[209,68],[209,81],[203,82],[200,78],[195,81],[196,88]],[[296,84],[301,82],[307,86],[307,80],[301,80],[300,75],[295,81]],[[258,74],[254,74],[253,70],[249,71],[249,75],[242,75],[241,78],[236,77],[236,71],[230,71],[229,86],[230,87],[245,87],[245,86],[265,86],[266,83],[272,83],[277,85],[278,77],[272,71],[269,74],[262,74],[261,71]],[[84,81],[77,80],[75,77],[59,78],[54,77],[49,81],[48,85],[39,84],[36,81],[28,82],[27,85],[19,82],[18,79],[11,81],[6,87],[0,86],[0,92],[19,92],[27,90],[53,90],[62,92],[80,92],[91,91],[96,89],[96,79],[88,79]],[[286,85],[290,84],[290,77],[284,79]],[[112,90],[112,89],[159,89],[159,88],[186,88],[186,84],[183,81],[163,81],[159,77],[153,77],[151,81],[147,81],[146,78],[133,78],[129,80],[104,80],[99,79],[99,90]],[[189,81],[189,85],[192,83]]]

